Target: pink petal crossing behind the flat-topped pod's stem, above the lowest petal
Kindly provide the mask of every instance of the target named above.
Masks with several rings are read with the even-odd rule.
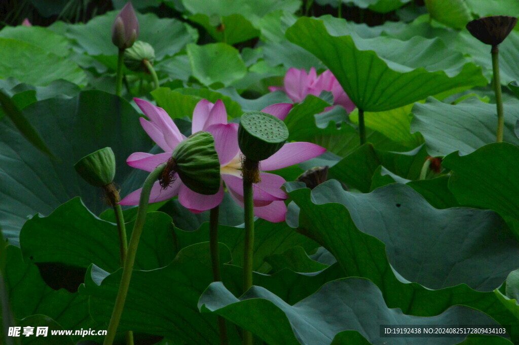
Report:
[[[235,196],[243,201],[243,180],[241,177],[222,174],[227,188],[234,192]],[[260,173],[261,182],[253,185],[252,198],[255,206],[263,206],[270,201],[285,200],[286,193],[281,190],[285,179],[281,176],[269,173]],[[266,203],[267,202],[267,203]]]

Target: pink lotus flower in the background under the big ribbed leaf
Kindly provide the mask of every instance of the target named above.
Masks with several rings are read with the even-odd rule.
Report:
[[[294,102],[301,102],[309,94],[319,96],[322,91],[331,91],[333,94],[333,104],[340,105],[350,113],[355,104],[349,99],[343,87],[340,86],[337,78],[326,70],[317,76],[316,69],[310,68],[310,73],[306,73],[305,68],[297,70],[297,68],[289,68],[284,79],[284,87],[270,86],[270,92],[284,91],[286,95]],[[327,108],[330,110],[330,108]]]

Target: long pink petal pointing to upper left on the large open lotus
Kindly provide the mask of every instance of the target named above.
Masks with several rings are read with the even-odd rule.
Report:
[[[158,106],[155,106],[148,101],[141,100],[138,98],[133,99],[135,103],[141,108],[144,115],[146,115],[162,132],[164,141],[169,146],[170,150],[175,148],[181,141],[186,137],[180,133],[178,127],[176,127],[173,119],[166,113],[166,111]],[[158,143],[157,143],[158,144]],[[166,151],[166,150],[165,150]]]

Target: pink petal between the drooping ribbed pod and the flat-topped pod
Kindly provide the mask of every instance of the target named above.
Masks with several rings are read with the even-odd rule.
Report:
[[[216,123],[206,128],[214,137],[214,148],[218,154],[220,165],[224,167],[239,153],[238,123]]]

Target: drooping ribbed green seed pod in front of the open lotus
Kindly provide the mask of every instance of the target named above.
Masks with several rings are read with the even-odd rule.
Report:
[[[220,189],[220,161],[209,132],[196,132],[177,145],[171,154],[176,172],[191,190],[213,195]]]

